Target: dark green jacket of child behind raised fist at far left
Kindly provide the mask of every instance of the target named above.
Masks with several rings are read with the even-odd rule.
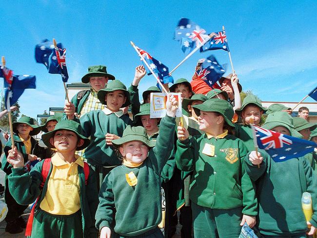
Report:
[[[14,144],[17,146],[17,149],[22,153],[24,163],[28,161],[28,154],[26,154],[25,145],[23,141],[17,134],[13,135]],[[7,162],[7,156],[9,154],[9,150],[12,148],[12,140],[11,138],[8,140],[4,147],[4,156],[2,158],[2,167],[1,169],[7,174],[11,174],[12,165]],[[31,155],[36,155],[41,159],[46,159],[45,149],[39,146],[39,142],[31,137]]]

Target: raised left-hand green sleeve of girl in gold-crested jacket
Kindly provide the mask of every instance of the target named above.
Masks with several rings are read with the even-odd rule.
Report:
[[[178,169],[182,171],[192,171],[195,169],[194,158],[196,143],[195,137],[186,140],[177,140],[175,158]],[[197,155],[197,158],[198,156],[199,155]]]

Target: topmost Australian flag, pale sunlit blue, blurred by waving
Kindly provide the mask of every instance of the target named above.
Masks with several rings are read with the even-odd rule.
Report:
[[[203,45],[205,40],[210,39],[205,33],[195,22],[182,18],[175,29],[174,40],[180,42],[181,50],[188,55],[196,47]]]

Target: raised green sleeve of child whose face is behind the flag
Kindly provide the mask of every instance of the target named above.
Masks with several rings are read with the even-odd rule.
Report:
[[[249,152],[243,163],[244,163],[244,169],[245,172],[247,172],[247,174],[249,175],[249,177],[253,180],[253,181],[257,181],[262,174],[266,171],[267,169],[267,164],[268,164],[268,159],[271,159],[271,157],[264,151],[264,150],[258,150],[258,152],[262,155],[263,157],[263,161],[262,163],[260,163],[260,167],[258,168],[258,165],[254,165],[251,163],[251,161],[249,160],[249,155],[251,152]]]

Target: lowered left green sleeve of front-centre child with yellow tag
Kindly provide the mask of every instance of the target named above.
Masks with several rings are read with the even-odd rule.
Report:
[[[99,205],[96,212],[96,228],[100,231],[102,227],[114,228],[116,214],[115,198],[112,191],[113,175],[110,172],[103,180],[99,191]],[[128,225],[128,224],[127,224]]]

